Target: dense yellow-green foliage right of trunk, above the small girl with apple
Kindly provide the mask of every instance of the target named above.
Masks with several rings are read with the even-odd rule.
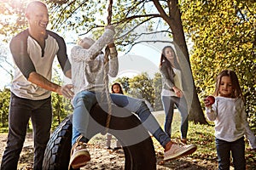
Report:
[[[200,98],[213,93],[220,71],[236,71],[255,127],[255,1],[187,0],[181,3],[181,10],[185,31],[194,42],[191,65]]]

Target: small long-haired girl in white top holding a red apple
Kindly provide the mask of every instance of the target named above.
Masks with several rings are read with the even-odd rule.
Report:
[[[230,169],[230,152],[235,169],[246,169],[247,114],[234,71],[224,70],[218,74],[214,96],[214,104],[205,99],[205,105],[208,120],[215,124],[218,169]]]

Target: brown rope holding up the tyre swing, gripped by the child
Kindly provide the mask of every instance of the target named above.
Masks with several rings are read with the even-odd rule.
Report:
[[[113,0],[109,0],[108,3],[108,17],[107,17],[107,21],[108,21],[108,26],[111,25],[111,19],[112,19],[112,5],[113,5]],[[107,97],[107,101],[108,101],[108,117],[107,117],[107,122],[106,122],[106,133],[108,133],[108,128],[109,128],[109,124],[111,121],[111,115],[112,115],[112,100],[110,98],[110,94],[109,94],[109,90],[108,90],[108,56],[110,54],[110,49],[108,48],[108,46],[105,48],[105,56],[104,56],[104,89],[103,89],[103,93],[105,92],[106,97]],[[102,95],[103,96],[103,95]]]

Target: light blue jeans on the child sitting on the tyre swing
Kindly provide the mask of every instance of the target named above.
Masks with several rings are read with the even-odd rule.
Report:
[[[89,124],[89,111],[91,107],[96,104],[96,102],[100,103],[100,97],[98,96],[101,96],[101,94],[96,94],[90,91],[82,91],[74,97],[72,144],[76,142],[76,139],[80,134],[83,134],[85,138],[87,137],[86,129],[88,129]],[[161,129],[159,123],[148,110],[148,106],[142,99],[131,98],[123,94],[110,94],[110,97],[113,104],[137,114],[141,122],[143,122],[143,126],[149,131],[149,133],[153,134],[154,138],[157,139],[163,147],[165,147],[166,144],[171,141],[169,136]],[[115,115],[117,114],[118,113],[115,113]]]

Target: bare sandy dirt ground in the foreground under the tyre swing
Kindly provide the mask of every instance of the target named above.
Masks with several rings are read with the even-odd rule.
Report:
[[[0,161],[2,161],[3,150],[6,146],[7,133],[0,133]],[[125,155],[123,150],[107,150],[104,148],[105,136],[97,137],[96,142],[89,144],[91,161],[81,169],[114,169],[121,170],[125,167]],[[20,154],[18,165],[19,170],[31,170],[33,162],[32,133],[26,135],[26,141]],[[115,144],[113,139],[112,144]],[[114,145],[113,145],[114,147]],[[159,150],[159,149],[156,149]],[[174,161],[163,161],[163,151],[156,151],[157,169],[185,169],[185,170],[213,170],[217,169],[217,164],[210,161],[192,159],[189,156],[179,158]]]

